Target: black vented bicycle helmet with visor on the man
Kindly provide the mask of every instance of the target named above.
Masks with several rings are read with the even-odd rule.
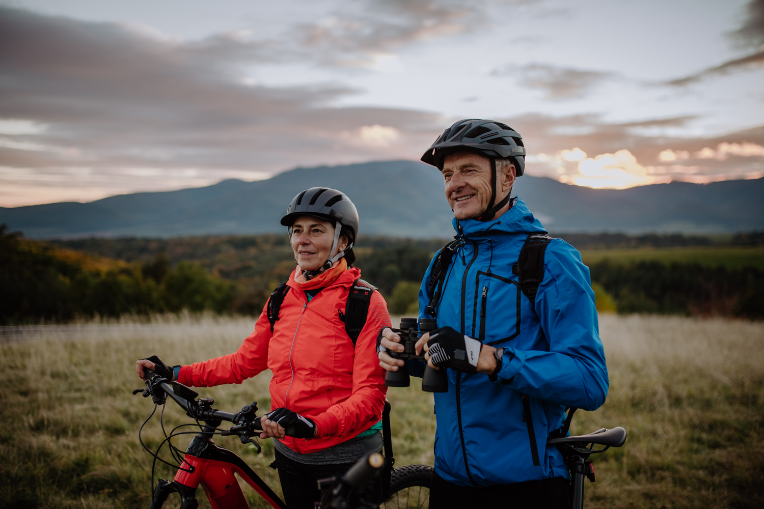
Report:
[[[490,159],[491,195],[488,208],[483,211],[478,221],[490,221],[510,201],[510,193],[499,203],[496,201],[496,159],[510,159],[515,166],[515,176],[522,176],[525,171],[526,150],[523,137],[507,124],[493,120],[467,118],[448,127],[435,143],[427,149],[422,161],[443,169],[443,159],[455,152],[476,152]]]

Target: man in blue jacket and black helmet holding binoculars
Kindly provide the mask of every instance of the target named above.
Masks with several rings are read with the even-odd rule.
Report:
[[[448,373],[448,391],[435,393],[435,509],[567,509],[568,469],[546,440],[563,429],[566,408],[592,411],[607,395],[589,270],[572,246],[545,236],[520,198],[510,198],[525,154],[516,130],[470,119],[422,156],[442,172],[457,233],[419,289],[419,318],[435,318],[439,328],[422,336],[417,353]],[[543,246],[536,285],[513,273],[533,258],[523,245],[534,242]],[[403,366],[386,352],[403,351],[394,330],[381,330],[378,343],[384,369]],[[414,361],[410,372],[421,375],[423,367]]]

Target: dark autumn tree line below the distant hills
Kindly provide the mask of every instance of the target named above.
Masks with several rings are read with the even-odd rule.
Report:
[[[706,243],[681,236],[562,237],[583,245]],[[752,232],[730,243],[757,246],[761,239]],[[445,242],[361,237],[356,266],[391,313],[416,314],[422,274]],[[293,267],[286,235],[38,242],[0,225],[0,324],[183,310],[257,315]],[[755,267],[604,260],[590,269],[601,311],[764,318],[764,271]]]

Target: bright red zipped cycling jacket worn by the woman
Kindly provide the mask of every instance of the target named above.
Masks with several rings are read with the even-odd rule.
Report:
[[[286,437],[286,446],[313,453],[355,437],[382,418],[387,388],[377,333],[390,326],[387,304],[374,291],[353,346],[339,313],[345,313],[349,289],[360,276],[360,269],[347,269],[308,302],[292,272],[273,333],[264,309],[235,353],[183,366],[178,381],[194,387],[240,384],[270,369],[271,409],[286,407],[316,423],[315,438]]]

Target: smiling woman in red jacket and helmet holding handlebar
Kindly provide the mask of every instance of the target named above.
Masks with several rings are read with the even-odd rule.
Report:
[[[335,189],[307,189],[293,198],[281,224],[289,228],[297,266],[278,316],[272,317],[274,325],[266,304],[254,332],[235,353],[167,368],[167,374],[184,385],[209,387],[239,384],[270,369],[272,410],[262,420],[261,438],[277,439],[286,505],[309,509],[320,497],[316,480],[342,475],[365,453],[382,449],[387,388],[375,350],[377,331],[390,326],[390,315],[374,290],[358,339],[351,340],[345,330],[348,295],[361,276],[352,266],[358,211],[350,198]],[[141,378],[144,366],[163,368],[160,362],[139,360]]]

